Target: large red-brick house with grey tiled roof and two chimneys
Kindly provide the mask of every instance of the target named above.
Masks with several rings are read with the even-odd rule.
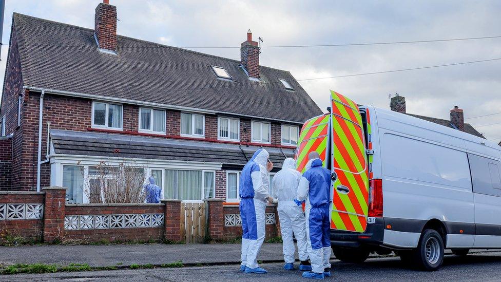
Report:
[[[238,202],[239,171],[263,147],[280,169],[322,114],[290,72],[117,35],[116,7],[87,29],[14,13],[0,105],[0,190],[67,187],[89,201],[95,165],[144,167],[164,198]]]

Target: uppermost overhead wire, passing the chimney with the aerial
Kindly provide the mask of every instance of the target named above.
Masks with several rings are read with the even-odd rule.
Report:
[[[303,47],[341,47],[341,46],[365,46],[365,45],[390,45],[390,44],[413,44],[413,43],[430,43],[430,42],[447,42],[447,41],[466,41],[466,40],[479,40],[479,39],[495,39],[501,38],[498,36],[484,36],[484,37],[469,37],[469,38],[454,38],[454,39],[433,39],[433,40],[413,40],[413,41],[394,41],[394,42],[368,42],[368,43],[340,43],[340,44],[307,44],[307,45],[275,45],[275,46],[261,46],[261,48],[303,48]],[[194,47],[180,47],[184,49],[228,49],[240,48],[241,46],[194,46]]]

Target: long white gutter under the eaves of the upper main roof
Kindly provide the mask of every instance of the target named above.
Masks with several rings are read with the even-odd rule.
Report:
[[[279,119],[270,119],[270,118],[266,118],[266,117],[242,115],[242,114],[236,114],[235,112],[215,111],[215,110],[207,110],[207,109],[200,109],[200,108],[174,106],[174,105],[168,105],[168,104],[142,102],[142,101],[130,100],[130,99],[102,97],[102,96],[98,96],[98,95],[90,95],[90,94],[85,94],[85,93],[46,89],[46,88],[39,88],[39,87],[32,87],[32,86],[23,86],[23,88],[37,91],[37,92],[47,92],[47,93],[52,93],[52,94],[57,94],[57,95],[62,95],[62,96],[87,98],[87,99],[108,101],[108,102],[115,102],[115,103],[132,104],[132,105],[148,106],[148,107],[156,107],[156,108],[175,109],[175,110],[185,110],[185,111],[197,111],[197,112],[202,112],[204,114],[211,114],[211,115],[221,114],[221,115],[230,115],[230,116],[240,116],[240,117],[246,117],[246,118],[251,118],[251,119],[259,119],[259,120],[267,120],[267,121],[273,120],[273,121],[287,122],[287,123],[300,124],[300,125],[303,124],[302,122],[298,122],[298,121],[279,120]]]

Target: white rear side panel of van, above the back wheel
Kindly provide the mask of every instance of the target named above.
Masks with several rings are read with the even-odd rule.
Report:
[[[373,165],[381,166],[383,217],[395,222],[385,230],[384,244],[417,247],[424,224],[438,219],[448,234],[463,230],[448,236],[448,248],[472,247],[474,205],[464,140],[386,110],[376,109],[376,118],[381,152]]]

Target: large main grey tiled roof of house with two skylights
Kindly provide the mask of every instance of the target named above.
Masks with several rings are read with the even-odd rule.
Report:
[[[18,13],[13,25],[25,86],[297,123],[322,114],[288,71],[260,66],[256,82],[236,60],[121,35],[112,55],[99,51],[92,29]]]

